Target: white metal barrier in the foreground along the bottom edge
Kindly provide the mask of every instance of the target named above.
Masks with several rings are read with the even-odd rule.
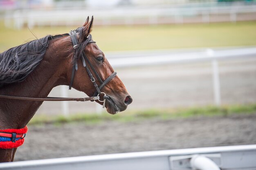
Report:
[[[198,166],[199,170],[206,170],[202,164],[208,170],[255,170],[256,145],[19,161],[0,163],[0,170],[191,170]]]

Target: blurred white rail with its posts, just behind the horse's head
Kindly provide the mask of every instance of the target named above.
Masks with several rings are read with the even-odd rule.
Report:
[[[195,48],[181,50],[147,50],[147,51],[121,51],[106,52],[105,55],[113,68],[129,68],[134,66],[163,65],[173,63],[193,63],[209,61],[213,71],[214,104],[221,105],[220,78],[218,61],[221,59],[234,59],[256,57],[256,47],[233,48]],[[63,91],[67,90],[63,87]],[[64,97],[66,94],[63,94]],[[62,106],[65,115],[68,114],[68,104]],[[101,105],[96,104],[97,113],[101,113]]]

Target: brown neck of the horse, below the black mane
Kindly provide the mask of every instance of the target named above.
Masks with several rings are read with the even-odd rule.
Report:
[[[61,39],[51,40],[43,60],[25,81],[2,87],[0,94],[46,98],[53,87],[66,85],[67,54],[58,44],[61,44]],[[23,128],[42,103],[0,98],[0,129]]]

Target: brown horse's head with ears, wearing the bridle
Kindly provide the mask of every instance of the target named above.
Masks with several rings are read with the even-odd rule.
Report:
[[[70,88],[88,96],[105,93],[108,97],[104,105],[108,113],[115,114],[124,111],[132,98],[104,53],[92,40],[92,24],[93,17],[90,22],[88,17],[83,26],[73,31],[73,35],[70,34],[70,46],[73,48],[71,62],[67,64],[67,81],[70,81]],[[78,42],[74,45],[74,41]],[[103,100],[97,102],[103,105]]]

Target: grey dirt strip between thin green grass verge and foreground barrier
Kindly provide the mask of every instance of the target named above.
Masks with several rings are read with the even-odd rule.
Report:
[[[256,113],[142,122],[29,126],[15,161],[256,144]]]

